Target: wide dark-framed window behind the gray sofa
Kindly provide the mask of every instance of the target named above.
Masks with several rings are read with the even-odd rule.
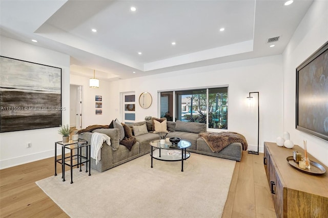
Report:
[[[228,87],[161,92],[160,117],[228,129]]]

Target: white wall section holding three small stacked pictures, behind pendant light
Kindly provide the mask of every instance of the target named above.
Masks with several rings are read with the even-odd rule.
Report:
[[[92,75],[90,75],[92,77]],[[82,128],[89,125],[100,124],[109,125],[113,119],[111,111],[109,110],[112,105],[111,95],[109,92],[110,82],[99,80],[99,88],[94,89],[89,87],[89,78],[77,75],[70,76],[70,82],[74,85],[82,86]],[[103,115],[96,115],[96,101],[95,96],[103,96]]]

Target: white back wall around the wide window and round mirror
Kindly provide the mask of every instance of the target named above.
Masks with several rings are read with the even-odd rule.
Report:
[[[136,98],[145,91],[152,95],[153,103],[148,109],[136,103],[136,121],[142,121],[146,116],[159,116],[158,91],[216,85],[229,85],[229,131],[243,134],[250,145],[257,147],[257,107],[249,108],[245,102],[249,92],[258,91],[260,150],[263,150],[264,141],[275,141],[282,135],[281,55],[112,82],[109,86],[110,116],[122,120],[120,93],[123,92],[135,91]]]

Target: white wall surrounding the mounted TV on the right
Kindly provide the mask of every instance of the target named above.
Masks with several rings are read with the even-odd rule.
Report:
[[[328,40],[328,1],[314,1],[283,52],[283,128],[291,140],[303,147],[308,141],[311,155],[328,165],[328,142],[295,129],[295,69]]]

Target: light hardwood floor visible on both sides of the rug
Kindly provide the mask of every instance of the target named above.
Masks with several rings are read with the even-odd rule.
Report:
[[[236,163],[222,217],[276,217],[263,154],[243,151],[242,155]],[[68,217],[35,184],[53,175],[54,158],[0,170],[0,217]]]

